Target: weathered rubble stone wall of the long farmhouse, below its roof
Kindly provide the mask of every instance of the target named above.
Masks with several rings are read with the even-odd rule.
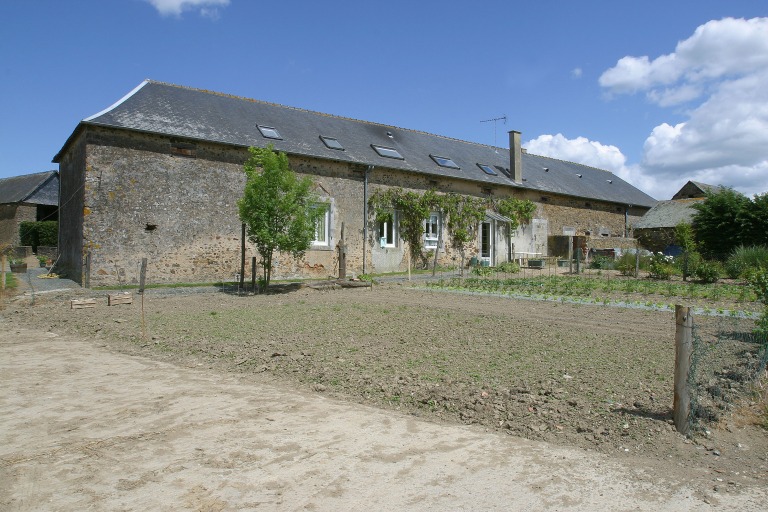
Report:
[[[88,126],[71,141],[60,163],[61,261],[57,268],[86,286],[137,283],[139,265],[147,258],[149,283],[234,280],[240,268],[241,223],[237,200],[245,175],[246,148],[177,141],[168,137]],[[274,278],[324,279],[339,274],[338,245],[342,230],[347,275],[406,270],[406,244],[382,248],[372,212],[364,219],[364,186],[368,196],[390,187],[423,192],[435,189],[482,197],[483,184],[439,179],[404,171],[357,164],[290,157],[292,168],[311,177],[315,193],[330,206],[330,239],[301,260],[276,255]],[[540,194],[510,187],[494,197],[540,199]],[[65,203],[66,198],[66,203]],[[538,203],[535,219],[513,233],[515,251],[547,254],[547,235],[573,226],[580,232],[605,226],[623,232],[624,210],[593,202],[551,196]],[[617,210],[620,209],[621,211]],[[367,239],[364,237],[367,227]],[[443,240],[446,239],[443,232]],[[510,248],[503,223],[494,226],[494,263],[506,261]],[[458,255],[443,243],[439,262],[455,264]],[[467,254],[477,254],[479,247]],[[250,260],[258,254],[246,244],[246,279]],[[258,271],[260,272],[260,270]]]

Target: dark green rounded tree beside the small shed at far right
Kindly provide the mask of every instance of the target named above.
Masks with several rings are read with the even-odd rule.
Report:
[[[742,244],[740,219],[751,201],[731,188],[707,193],[704,201],[692,205],[693,231],[701,253],[709,258],[724,258]],[[753,245],[753,244],[748,244]]]

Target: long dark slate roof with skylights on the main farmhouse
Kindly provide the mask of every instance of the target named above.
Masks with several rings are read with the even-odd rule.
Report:
[[[275,149],[288,154],[448,176],[487,186],[505,185],[542,194],[646,207],[656,203],[617,176],[594,167],[524,153],[524,181],[517,184],[508,174],[508,149],[151,80],[142,82],[106,110],[81,121],[78,129],[83,125],[243,147],[273,144]],[[259,125],[277,129],[281,140],[266,138]],[[344,150],[328,148],[320,136],[337,139]],[[68,144],[69,141],[54,162],[60,160]],[[380,156],[371,145],[396,149],[403,159]],[[430,155],[450,158],[460,169],[441,167]],[[477,164],[489,165],[497,174],[486,174]]]

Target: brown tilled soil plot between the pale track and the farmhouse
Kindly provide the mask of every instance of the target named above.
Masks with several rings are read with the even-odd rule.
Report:
[[[128,353],[663,463],[708,475],[716,492],[768,483],[768,433],[756,424],[760,404],[747,378],[758,347],[712,335],[749,332],[752,321],[696,318],[712,341],[685,437],[672,425],[668,312],[397,284],[258,296],[150,290],[143,306],[134,294],[130,305],[108,307],[99,297],[82,310],[70,309],[71,296],[17,301],[3,313]]]

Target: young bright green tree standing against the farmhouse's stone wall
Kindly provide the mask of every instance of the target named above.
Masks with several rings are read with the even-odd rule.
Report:
[[[276,153],[271,145],[248,151],[251,156],[243,165],[247,181],[237,206],[248,239],[261,256],[261,286],[266,289],[275,251],[300,258],[309,249],[315,225],[325,212],[317,207],[312,180],[299,179],[285,153]]]

